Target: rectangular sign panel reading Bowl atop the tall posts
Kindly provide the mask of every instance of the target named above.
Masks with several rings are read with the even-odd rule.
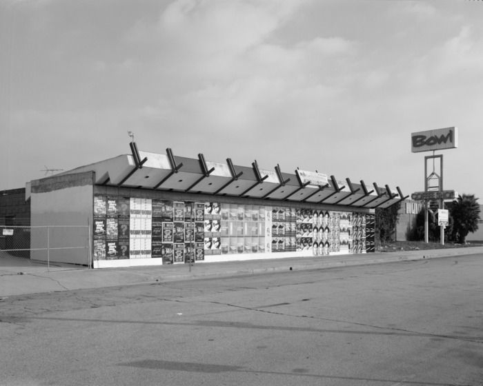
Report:
[[[411,152],[432,152],[433,150],[455,149],[458,147],[457,128],[426,130],[411,134]]]

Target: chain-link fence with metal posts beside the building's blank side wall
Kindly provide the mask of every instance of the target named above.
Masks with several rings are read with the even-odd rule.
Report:
[[[0,224],[0,276],[90,267],[88,225]]]

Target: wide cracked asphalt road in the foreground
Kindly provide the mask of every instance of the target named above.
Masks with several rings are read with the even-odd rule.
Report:
[[[483,255],[0,300],[0,385],[483,385]]]

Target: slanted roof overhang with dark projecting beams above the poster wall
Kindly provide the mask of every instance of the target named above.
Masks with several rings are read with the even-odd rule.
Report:
[[[237,196],[270,202],[290,201],[311,204],[327,204],[359,209],[390,207],[407,198],[399,187],[391,190],[388,185],[367,186],[349,179],[327,179],[324,185],[304,183],[297,172],[282,172],[279,165],[274,170],[262,169],[254,161],[251,166],[206,161],[203,154],[197,159],[175,156],[170,148],[166,154],[137,150],[130,143],[132,154],[117,156],[106,161],[79,167],[70,172],[95,171],[97,185],[135,187],[141,189],[209,194],[213,196]],[[68,174],[64,172],[63,174]]]

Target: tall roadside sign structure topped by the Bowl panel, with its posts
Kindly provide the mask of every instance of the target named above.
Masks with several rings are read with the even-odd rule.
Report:
[[[411,199],[424,201],[424,242],[429,241],[428,213],[434,216],[430,203],[436,203],[438,209],[438,225],[440,225],[441,244],[444,245],[444,228],[449,223],[448,210],[444,209],[444,201],[455,199],[454,190],[443,190],[443,156],[435,155],[436,150],[455,149],[458,143],[458,130],[455,127],[437,130],[426,130],[411,134],[411,152],[433,152],[424,157],[424,192],[411,194]],[[428,170],[428,161],[433,161],[432,171]]]

